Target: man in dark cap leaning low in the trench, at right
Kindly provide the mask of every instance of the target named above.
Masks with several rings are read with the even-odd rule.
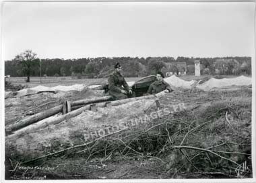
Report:
[[[164,74],[160,71],[156,74],[156,81],[150,85],[148,88],[147,94],[157,94],[160,91],[164,91],[166,93],[173,91],[166,81],[164,81]]]

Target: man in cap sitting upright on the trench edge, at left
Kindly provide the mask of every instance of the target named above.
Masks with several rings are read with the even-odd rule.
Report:
[[[133,92],[121,74],[122,67],[119,63],[115,65],[115,71],[108,77],[109,94],[114,100],[131,97]]]

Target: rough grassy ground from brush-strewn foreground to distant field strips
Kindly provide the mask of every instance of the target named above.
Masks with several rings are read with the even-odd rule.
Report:
[[[137,79],[127,78],[127,81]],[[31,81],[28,87],[92,85],[106,79],[48,77],[41,84],[40,78],[32,77]],[[24,84],[24,78],[11,78],[11,82]],[[16,124],[65,100],[105,95],[84,89],[7,98],[5,125]],[[5,176],[9,180],[251,178],[251,97],[248,87],[213,91],[177,89],[159,97],[160,106],[154,98],[97,111],[85,110],[32,133],[7,137]],[[161,109],[166,108],[173,111],[160,116]],[[145,115],[151,116],[147,122],[132,123]],[[119,126],[121,129],[114,130],[113,126],[121,122],[128,128]],[[106,137],[86,139],[108,128],[113,133]],[[242,168],[245,163],[246,168]]]

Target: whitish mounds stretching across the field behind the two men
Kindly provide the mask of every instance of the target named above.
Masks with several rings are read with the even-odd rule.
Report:
[[[185,81],[175,75],[165,78],[164,81],[166,81],[167,83],[169,83],[170,85],[172,85],[174,87],[179,87],[179,88],[183,88],[183,89],[191,89],[193,87],[192,85],[197,82],[195,80]],[[127,83],[129,86],[131,86],[135,82],[130,81]],[[239,77],[234,77],[234,78],[224,78],[224,79],[211,78],[202,84],[196,85],[195,87],[197,87],[199,89],[203,89],[204,91],[209,91],[210,89],[213,89],[213,88],[228,87],[228,86],[232,86],[232,85],[238,85],[238,86],[251,85],[251,77],[245,77],[245,76],[241,75]],[[91,86],[89,86],[89,88],[92,89],[92,88],[98,87],[98,86],[100,86],[100,85],[91,85]],[[85,87],[87,87],[87,86],[86,85],[78,85],[78,84],[70,85],[70,86],[58,85],[55,87],[45,87],[42,85],[38,85],[36,87],[26,88],[26,89],[22,89],[20,91],[16,91],[17,94],[15,95],[15,97],[26,96],[28,94],[37,94],[38,92],[44,92],[44,91],[55,91],[56,93],[58,91],[81,91]],[[5,98],[7,98],[7,96],[9,94],[10,94],[9,91],[5,91]]]

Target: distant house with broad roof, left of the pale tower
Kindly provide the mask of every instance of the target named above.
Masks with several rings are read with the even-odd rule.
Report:
[[[166,70],[165,75],[187,75],[187,63],[185,62],[177,62],[177,63],[165,63]]]

